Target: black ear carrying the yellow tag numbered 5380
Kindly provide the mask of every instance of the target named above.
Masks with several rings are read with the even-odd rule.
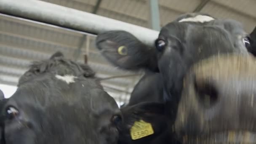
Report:
[[[172,142],[164,104],[141,102],[123,107],[121,112],[123,123],[118,125],[120,144],[141,144],[145,141],[148,144]]]

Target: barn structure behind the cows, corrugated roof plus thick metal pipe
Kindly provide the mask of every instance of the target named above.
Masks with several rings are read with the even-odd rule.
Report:
[[[61,6],[58,7],[60,9],[57,6]],[[65,11],[59,11],[64,7]],[[125,23],[137,25],[140,27],[134,27],[136,32],[147,40],[157,36],[160,27],[188,12],[235,19],[244,24],[247,32],[251,32],[256,26],[255,8],[256,0],[0,0],[0,89],[13,93],[19,77],[28,69],[31,61],[48,59],[59,50],[79,62],[85,62],[86,55],[97,77],[107,78],[102,81],[104,89],[119,104],[126,103],[143,72],[127,72],[113,67],[95,47],[97,33],[81,28],[79,21],[66,27],[67,21],[61,21],[61,17],[69,16],[70,21],[75,18],[84,22],[94,21],[105,28],[128,29],[130,25]],[[52,16],[56,16],[59,23],[54,24],[48,19],[51,14],[33,15],[36,9],[49,13],[54,10]],[[90,18],[82,17],[82,14],[72,16],[70,9],[109,19],[99,21],[93,18],[94,15],[90,15]],[[113,19],[118,20],[115,21],[117,25],[109,23]],[[95,29],[101,28],[96,26]],[[155,33],[147,35],[145,31]],[[6,89],[6,85],[13,88]]]

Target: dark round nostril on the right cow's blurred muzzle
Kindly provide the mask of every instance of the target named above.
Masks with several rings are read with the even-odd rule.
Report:
[[[205,108],[210,108],[216,104],[218,100],[218,91],[213,84],[195,82],[195,90],[197,92],[200,104],[202,104]]]

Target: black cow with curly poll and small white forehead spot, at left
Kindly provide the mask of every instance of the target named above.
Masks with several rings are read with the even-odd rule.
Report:
[[[115,100],[85,64],[57,52],[19,79],[1,108],[1,144],[116,144]]]

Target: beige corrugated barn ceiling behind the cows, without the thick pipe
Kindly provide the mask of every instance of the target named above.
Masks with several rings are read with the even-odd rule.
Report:
[[[147,0],[43,0],[48,3],[96,13],[142,27],[149,27]],[[200,11],[216,18],[235,19],[251,32],[256,26],[256,0],[159,0],[161,27],[182,13]],[[56,51],[88,64],[98,77],[133,75],[102,81],[117,101],[127,102],[142,72],[125,72],[109,64],[95,48],[95,37],[83,32],[52,27],[9,16],[0,16],[0,83],[16,85],[31,61],[48,59]]]

